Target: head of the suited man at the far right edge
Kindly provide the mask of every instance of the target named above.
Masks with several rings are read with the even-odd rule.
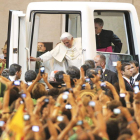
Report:
[[[132,75],[135,76],[139,73],[139,63],[136,60],[132,60],[129,63],[131,64]]]

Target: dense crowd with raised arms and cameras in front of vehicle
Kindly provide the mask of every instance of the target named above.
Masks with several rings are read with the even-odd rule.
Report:
[[[98,54],[80,69],[56,70],[53,77],[42,67],[38,74],[28,70],[24,81],[20,65],[12,64],[6,76],[4,66],[2,61],[1,140],[140,139],[137,61],[116,62],[114,73]]]

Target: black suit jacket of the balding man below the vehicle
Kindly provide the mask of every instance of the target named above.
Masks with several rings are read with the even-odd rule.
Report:
[[[103,73],[103,80],[108,81],[111,84],[118,82],[117,74],[111,70],[105,69]]]

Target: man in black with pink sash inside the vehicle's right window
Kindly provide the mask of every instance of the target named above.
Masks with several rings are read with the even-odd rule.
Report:
[[[97,50],[104,49],[101,51],[108,52],[107,48],[111,46],[111,43],[113,43],[115,45],[113,52],[120,53],[121,49],[122,49],[122,43],[121,43],[121,40],[118,38],[118,36],[115,35],[113,33],[113,31],[102,29],[103,25],[104,25],[104,22],[102,19],[95,18],[94,24],[95,24]],[[111,46],[111,48],[112,48],[112,46]]]

